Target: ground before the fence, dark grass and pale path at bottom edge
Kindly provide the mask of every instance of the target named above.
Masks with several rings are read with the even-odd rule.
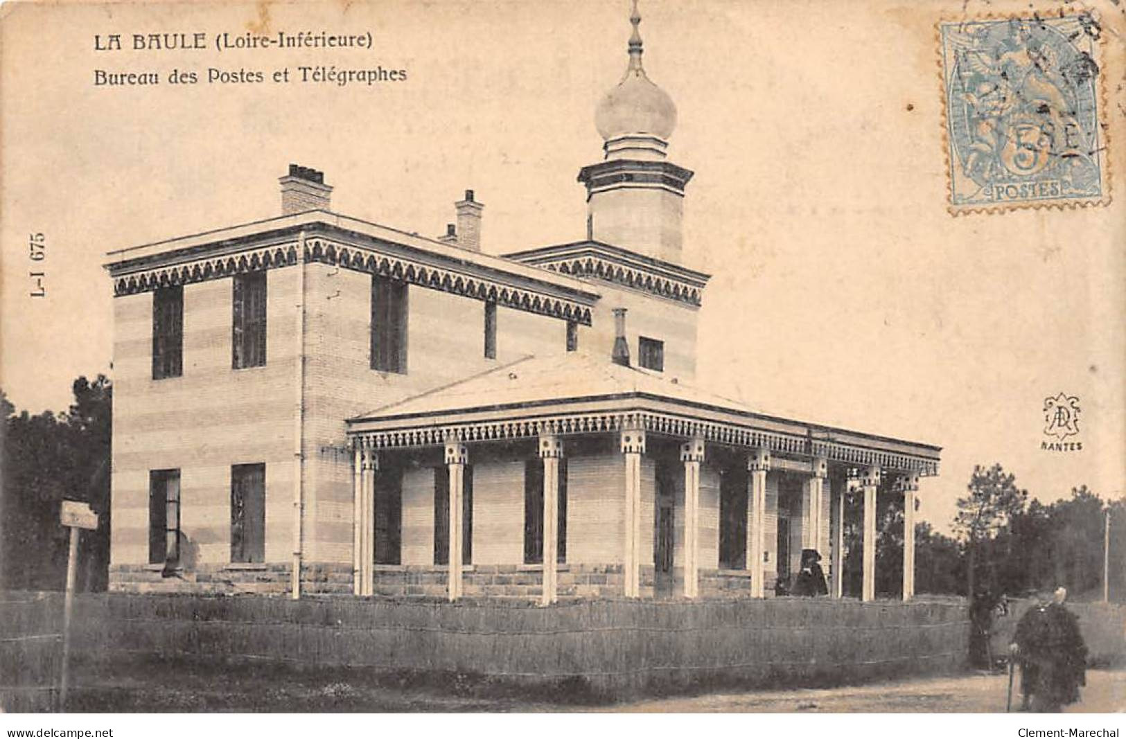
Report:
[[[1018,679],[1019,683],[1019,679]],[[569,686],[518,691],[464,676],[302,672],[275,666],[79,664],[75,712],[1003,712],[1004,675],[955,675],[823,690],[714,692],[659,700],[593,700]],[[1019,695],[1013,696],[1019,704]],[[1126,710],[1126,672],[1090,670],[1067,712]]]

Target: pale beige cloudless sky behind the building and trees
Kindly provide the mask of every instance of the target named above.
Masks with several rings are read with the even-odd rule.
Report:
[[[676,101],[669,157],[696,172],[688,267],[712,273],[697,384],[763,413],[942,447],[920,516],[947,530],[975,465],[1043,501],[1124,495],[1123,199],[954,217],[935,24],[974,2],[643,0],[644,64]],[[1013,4],[1019,9],[1021,6]],[[1105,7],[1103,70],[1123,69]],[[0,47],[0,388],[61,411],[110,372],[114,249],[270,217],[288,163],[333,209],[438,235],[466,188],[483,249],[584,235],[579,169],[620,79],[624,0],[20,6]],[[370,49],[152,51],[132,34],[370,34]],[[97,51],[96,35],[126,48]],[[28,62],[27,60],[35,60]],[[274,83],[302,65],[405,70],[375,85]],[[158,85],[96,85],[96,70]],[[207,70],[262,83],[207,83]],[[200,83],[169,84],[173,70]],[[1126,191],[1121,90],[1106,157]],[[1120,74],[1119,74],[1120,78]],[[1118,85],[1120,87],[1120,85]],[[42,233],[44,298],[29,296]],[[1042,449],[1043,405],[1081,407],[1079,451]]]

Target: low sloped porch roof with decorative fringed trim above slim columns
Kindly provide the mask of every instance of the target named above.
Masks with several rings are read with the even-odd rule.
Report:
[[[767,445],[921,474],[937,471],[939,448],[772,416],[660,372],[582,352],[525,357],[348,420],[375,447],[554,433],[613,431],[623,424],[721,443]]]

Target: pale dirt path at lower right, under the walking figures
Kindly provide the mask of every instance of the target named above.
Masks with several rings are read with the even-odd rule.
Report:
[[[1020,677],[1013,706],[1020,704]],[[597,709],[627,712],[722,713],[993,713],[1004,711],[1006,675],[967,675],[831,690],[714,693]],[[1065,713],[1126,711],[1126,670],[1090,670],[1082,700]]]

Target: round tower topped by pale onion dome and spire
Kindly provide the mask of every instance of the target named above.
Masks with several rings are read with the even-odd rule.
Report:
[[[677,106],[642,66],[637,0],[629,22],[625,76],[595,114],[604,161],[579,172],[587,186],[587,237],[679,263],[685,186],[692,172],[665,161]]]

